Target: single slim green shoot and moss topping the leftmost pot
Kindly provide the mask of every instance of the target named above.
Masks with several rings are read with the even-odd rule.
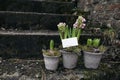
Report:
[[[54,48],[54,41],[50,40],[49,43],[49,49],[48,50],[42,50],[43,54],[48,55],[48,56],[59,56],[60,52]]]

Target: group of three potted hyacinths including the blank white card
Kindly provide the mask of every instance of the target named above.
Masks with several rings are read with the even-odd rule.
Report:
[[[75,68],[81,50],[84,52],[85,67],[93,69],[98,67],[106,47],[100,45],[100,39],[88,39],[87,44],[84,45],[82,49],[79,47],[78,41],[81,35],[81,30],[85,27],[85,21],[85,18],[79,16],[76,22],[73,24],[73,27],[68,27],[68,25],[64,22],[60,22],[57,25],[62,42],[62,49],[54,48],[54,41],[50,41],[50,49],[43,50],[46,69],[56,70],[59,64],[59,57],[61,55],[63,66],[65,68]],[[99,56],[100,58],[98,58]]]

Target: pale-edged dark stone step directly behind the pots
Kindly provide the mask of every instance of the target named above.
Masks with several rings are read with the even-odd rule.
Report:
[[[85,43],[88,37],[101,36],[82,34],[79,43]],[[0,56],[42,58],[42,49],[49,48],[51,39],[55,41],[55,47],[58,48],[61,45],[59,34],[55,31],[0,31]]]

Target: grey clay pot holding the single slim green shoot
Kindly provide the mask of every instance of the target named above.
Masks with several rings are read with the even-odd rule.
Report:
[[[47,56],[43,54],[44,56],[44,63],[45,63],[45,68],[47,70],[56,70],[58,68],[59,64],[59,57],[60,56]]]

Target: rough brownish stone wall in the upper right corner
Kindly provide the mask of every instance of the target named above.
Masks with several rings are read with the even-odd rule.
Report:
[[[119,30],[119,0],[79,0],[78,8],[89,11],[88,26],[107,26]],[[91,6],[89,6],[91,5]]]

